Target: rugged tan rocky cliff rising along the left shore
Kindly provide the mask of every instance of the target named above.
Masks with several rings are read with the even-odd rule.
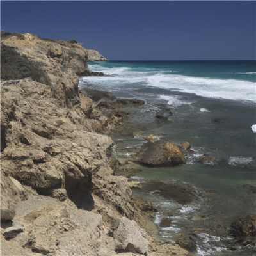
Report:
[[[113,176],[114,143],[103,133],[126,114],[79,92],[88,50],[0,36],[1,255],[186,255],[154,243],[152,205]]]

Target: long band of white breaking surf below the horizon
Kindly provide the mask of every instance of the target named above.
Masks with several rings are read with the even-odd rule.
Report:
[[[231,100],[250,100],[255,99],[255,83],[251,81],[242,81],[236,79],[216,79],[207,77],[184,76],[170,71],[143,70],[129,67],[108,68],[104,65],[93,63],[88,65],[90,70],[101,71],[105,74],[113,75],[111,77],[83,77],[84,82],[91,84],[103,84],[108,88],[136,88],[141,86],[151,86],[155,88],[164,88],[171,91],[182,91],[185,93],[195,93],[203,97],[216,97]],[[248,72],[248,74],[253,72]],[[103,86],[103,87],[104,87]],[[173,104],[180,104],[180,99],[176,99]],[[183,100],[182,100],[183,101]],[[171,104],[171,102],[170,102]]]

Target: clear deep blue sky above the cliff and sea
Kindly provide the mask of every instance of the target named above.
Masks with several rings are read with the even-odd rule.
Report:
[[[255,0],[2,1],[1,29],[109,60],[255,60]]]

